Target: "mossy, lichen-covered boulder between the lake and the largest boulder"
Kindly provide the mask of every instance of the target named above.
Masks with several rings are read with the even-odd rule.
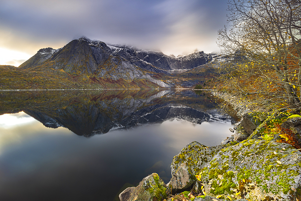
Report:
[[[237,142],[232,141],[226,145],[217,145],[207,147],[196,141],[186,145],[181,152],[173,157],[171,164],[171,175],[175,175],[176,170],[182,163],[191,168],[193,174],[197,174],[200,170],[207,165],[208,162],[219,152],[222,148],[235,144]]]

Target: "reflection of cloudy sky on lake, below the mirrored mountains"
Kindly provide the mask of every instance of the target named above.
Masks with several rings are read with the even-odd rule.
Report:
[[[163,163],[152,170],[170,178],[172,158],[184,146],[192,141],[218,144],[231,135],[229,126],[170,120],[90,138],[62,127],[47,128],[37,121],[5,130],[1,127],[0,143],[4,143],[4,136],[9,143],[1,149],[0,197],[113,200],[123,184],[136,185],[156,162]]]

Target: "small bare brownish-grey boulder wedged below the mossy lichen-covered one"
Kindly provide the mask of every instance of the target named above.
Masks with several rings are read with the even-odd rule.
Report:
[[[192,173],[191,169],[187,165],[182,163],[177,171],[175,171],[175,174],[172,176],[169,182],[168,192],[176,193],[179,190],[187,189],[195,181],[197,181],[197,178]]]

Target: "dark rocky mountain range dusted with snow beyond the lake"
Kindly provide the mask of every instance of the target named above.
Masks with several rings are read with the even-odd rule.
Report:
[[[147,80],[170,88],[175,83],[160,79],[162,76],[157,74],[174,76],[210,61],[212,56],[203,51],[174,57],[125,45],[107,45],[82,37],[60,49],[40,49],[19,68],[30,71],[63,70],[83,80],[88,75],[88,79],[99,83],[104,79],[112,83]]]

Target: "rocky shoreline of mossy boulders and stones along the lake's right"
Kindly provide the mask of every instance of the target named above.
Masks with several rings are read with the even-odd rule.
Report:
[[[234,135],[212,147],[188,144],[173,158],[168,184],[153,173],[137,187],[120,193],[120,201],[301,200],[300,150],[275,142],[279,133],[269,140],[260,139],[263,125],[272,120],[261,115],[255,103],[212,93],[227,101],[242,118],[234,125]],[[284,122],[281,126],[294,130],[300,143],[301,118]]]

